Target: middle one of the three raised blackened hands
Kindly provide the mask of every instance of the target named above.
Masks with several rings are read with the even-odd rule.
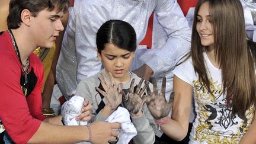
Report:
[[[135,79],[132,79],[128,94],[123,95],[124,107],[126,107],[126,109],[130,112],[130,114],[132,114],[133,117],[139,117],[142,115],[142,106],[145,103],[145,101],[149,98],[143,97],[144,92],[149,85],[149,82],[147,81],[144,87],[141,89],[140,87],[143,81],[143,79],[140,79],[139,85],[137,86],[134,92],[133,84],[135,82]]]

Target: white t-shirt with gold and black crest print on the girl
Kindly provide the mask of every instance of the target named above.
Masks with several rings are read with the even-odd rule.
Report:
[[[197,116],[190,133],[190,143],[239,143],[251,124],[254,108],[250,107],[245,117],[232,115],[231,104],[227,103],[226,92],[222,88],[222,71],[212,65],[206,53],[203,55],[214,96],[199,81],[191,57],[173,71],[193,87]]]

